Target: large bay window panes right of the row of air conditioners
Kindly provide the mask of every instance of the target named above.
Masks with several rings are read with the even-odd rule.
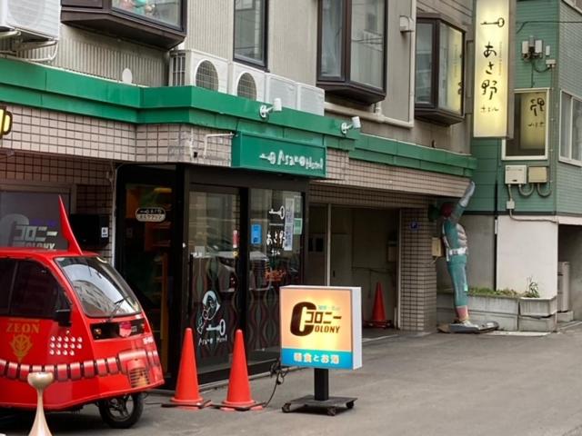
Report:
[[[386,97],[386,0],[320,0],[317,85],[364,104]]]

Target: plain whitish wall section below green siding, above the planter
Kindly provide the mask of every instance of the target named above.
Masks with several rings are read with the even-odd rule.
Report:
[[[497,288],[525,292],[531,277],[541,297],[557,295],[557,223],[500,216],[497,238]]]

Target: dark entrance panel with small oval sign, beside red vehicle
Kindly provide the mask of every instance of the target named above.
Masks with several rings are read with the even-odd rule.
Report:
[[[169,369],[170,341],[168,309],[173,284],[170,269],[174,221],[172,199],[169,186],[125,184],[122,272],[146,311],[166,372]]]

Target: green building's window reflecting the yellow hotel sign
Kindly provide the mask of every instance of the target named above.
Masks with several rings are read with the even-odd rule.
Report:
[[[547,157],[547,90],[516,90],[513,139],[504,141],[504,159]]]

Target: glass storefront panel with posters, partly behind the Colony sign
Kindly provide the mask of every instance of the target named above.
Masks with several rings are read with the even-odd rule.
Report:
[[[253,189],[250,201],[246,342],[251,359],[259,359],[279,350],[279,288],[301,281],[303,197]]]

